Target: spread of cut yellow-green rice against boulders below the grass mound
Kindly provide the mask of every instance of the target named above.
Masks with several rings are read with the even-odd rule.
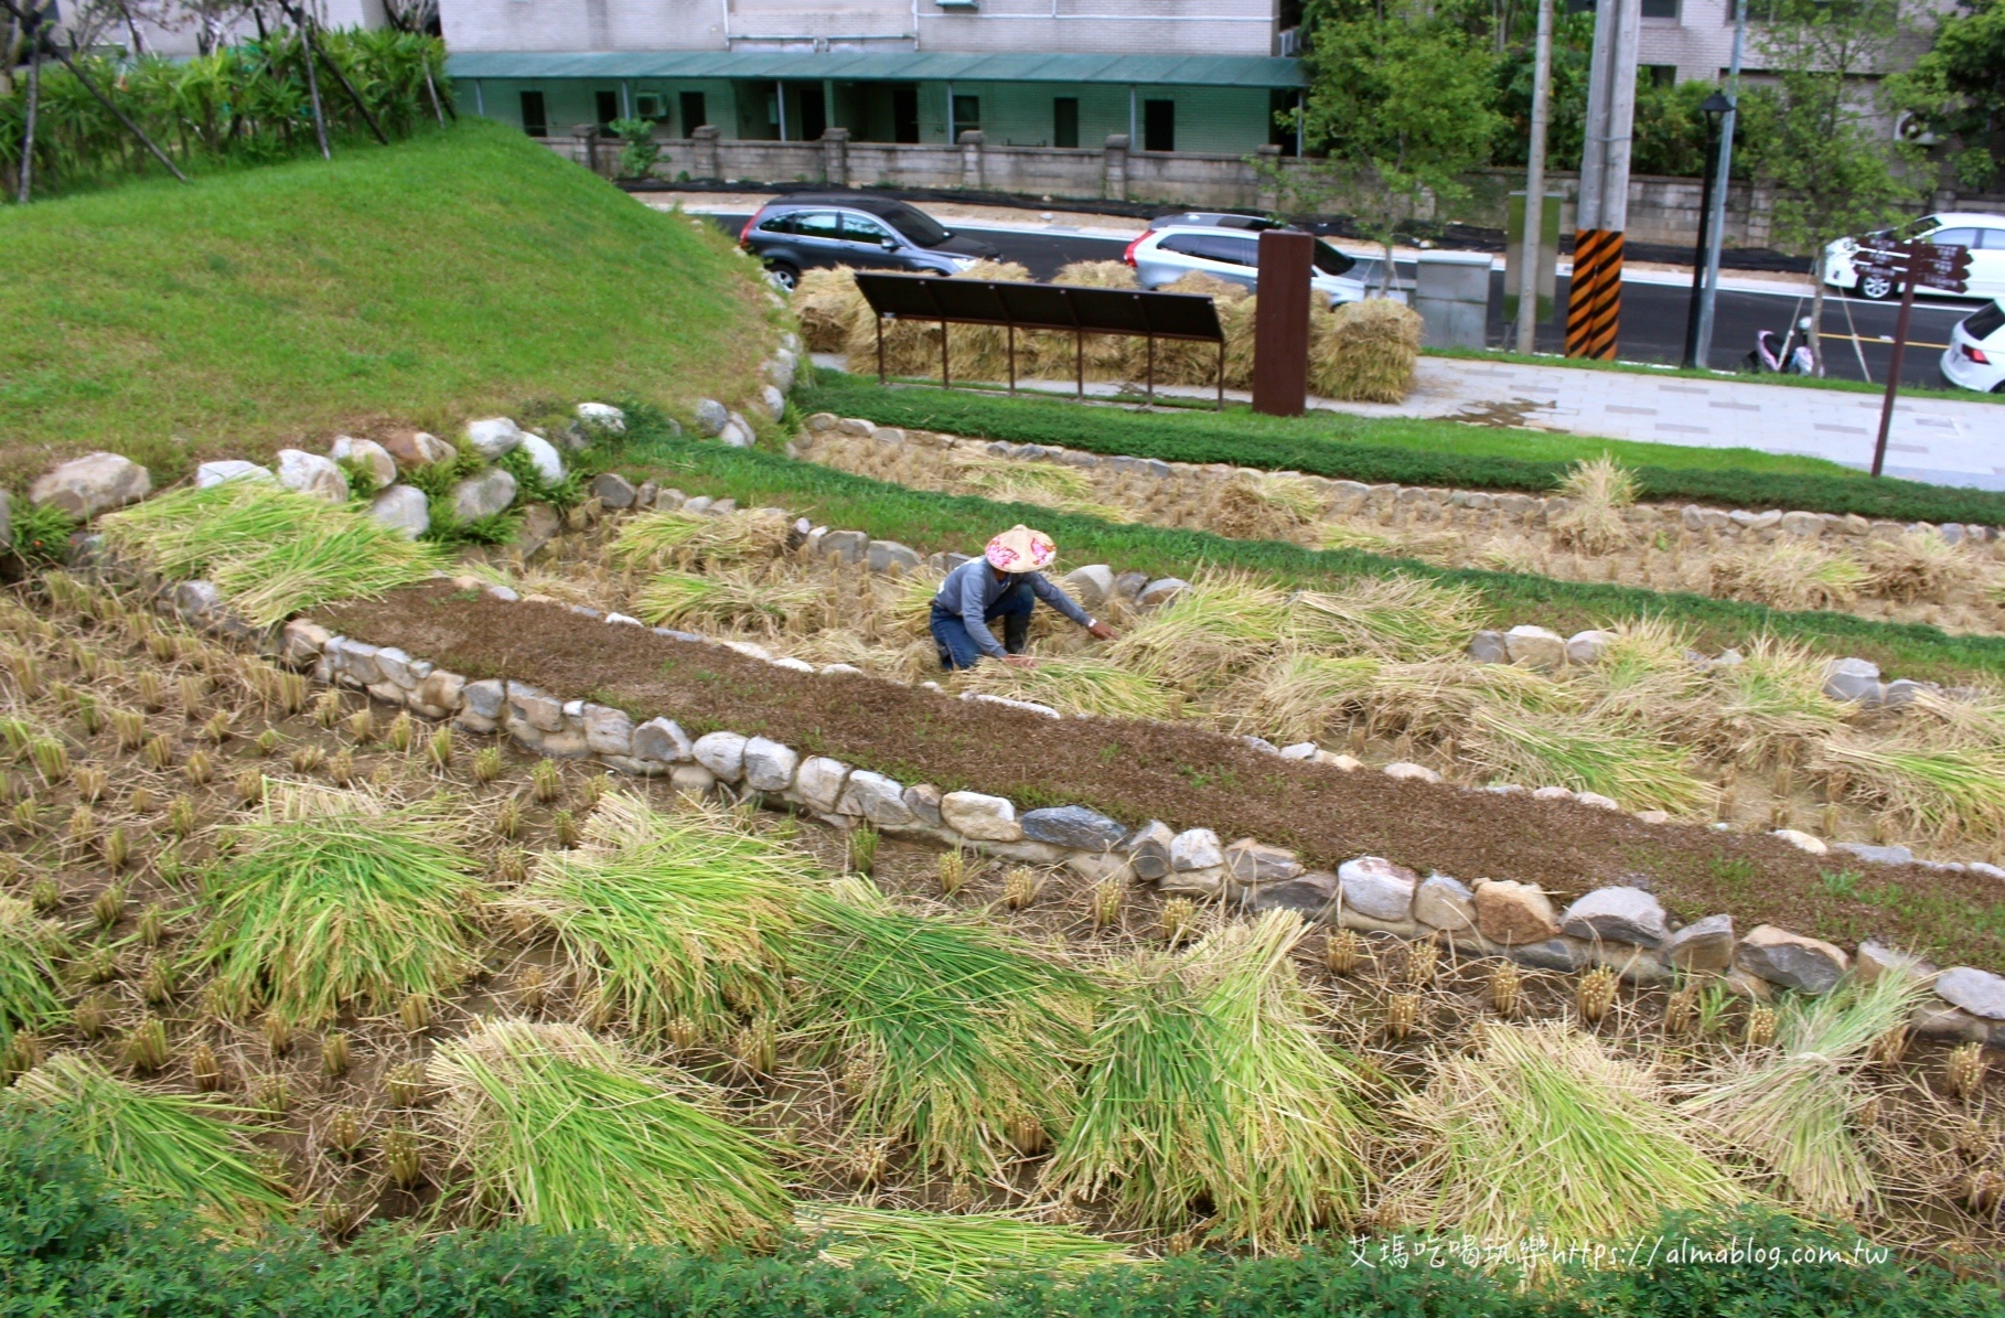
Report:
[[[435,546],[403,538],[367,512],[269,481],[172,489],[100,520],[112,548],[160,576],[203,576],[257,626],[329,600],[377,598],[433,576]]]

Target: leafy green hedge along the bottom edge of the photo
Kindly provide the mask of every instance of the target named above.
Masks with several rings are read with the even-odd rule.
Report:
[[[307,1232],[219,1242],[172,1212],[138,1214],[56,1119],[0,1107],[0,1318],[1979,1318],[1997,1280],[1861,1248],[1780,1216],[1666,1220],[1522,1288],[1460,1248],[1331,1240],[1283,1258],[1185,1254],[1085,1280],[996,1278],[974,1300],[928,1296],[876,1266],[798,1244],[774,1256],[690,1256],[595,1234],[421,1236],[379,1226],[329,1250]],[[1698,1252],[1700,1258],[1688,1258]]]

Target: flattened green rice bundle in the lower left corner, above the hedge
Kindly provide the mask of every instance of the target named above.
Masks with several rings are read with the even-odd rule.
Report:
[[[231,1107],[142,1089],[82,1053],[56,1053],[8,1097],[58,1111],[66,1133],[140,1206],[194,1208],[225,1226],[255,1226],[291,1208],[259,1174]]]

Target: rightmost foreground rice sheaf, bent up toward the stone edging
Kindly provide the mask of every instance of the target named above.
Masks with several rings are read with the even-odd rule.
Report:
[[[1907,1023],[1917,977],[1885,971],[1776,1011],[1776,1051],[1744,1057],[1688,1103],[1770,1176],[1770,1190],[1829,1218],[1879,1208],[1859,1129],[1873,1095],[1861,1083],[1873,1045]]]

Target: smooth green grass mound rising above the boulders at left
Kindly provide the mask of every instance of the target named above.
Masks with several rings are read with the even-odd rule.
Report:
[[[710,225],[467,120],[0,211],[0,481],[114,447],[178,475],[537,397],[744,397],[772,335]]]

